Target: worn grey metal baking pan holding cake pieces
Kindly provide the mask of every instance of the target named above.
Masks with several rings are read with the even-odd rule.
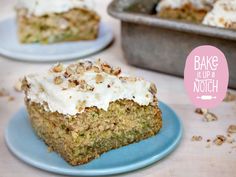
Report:
[[[236,89],[236,31],[158,18],[154,14],[158,2],[113,0],[108,6],[108,13],[121,20],[121,43],[128,63],[183,76],[188,54],[199,45],[213,45],[226,55],[229,86]]]

